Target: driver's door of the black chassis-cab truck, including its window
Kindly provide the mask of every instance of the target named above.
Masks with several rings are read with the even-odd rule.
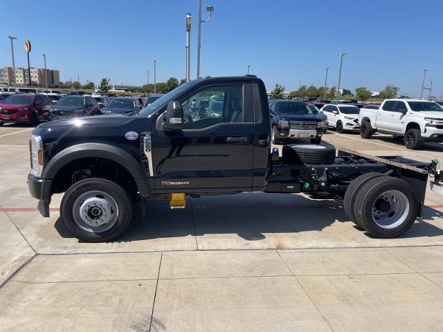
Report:
[[[164,131],[160,116],[152,132],[156,190],[251,190],[254,124],[247,82],[217,82],[183,96],[180,131]]]

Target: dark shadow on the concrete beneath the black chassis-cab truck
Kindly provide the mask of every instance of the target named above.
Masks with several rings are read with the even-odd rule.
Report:
[[[342,203],[329,199],[313,200],[302,195],[242,193],[188,198],[185,210],[170,210],[168,201],[151,201],[145,203],[144,217],[138,203],[134,205],[132,224],[114,242],[205,234],[238,234],[246,241],[260,241],[266,239],[265,234],[320,232],[333,223],[347,223],[334,225],[336,233],[329,234],[343,237],[346,227],[356,226],[345,215]],[[400,238],[442,236],[443,229],[428,222],[442,217],[443,212],[425,208],[424,216]],[[72,237],[60,218],[55,222],[55,228],[62,237]],[[361,234],[370,237],[366,232]]]

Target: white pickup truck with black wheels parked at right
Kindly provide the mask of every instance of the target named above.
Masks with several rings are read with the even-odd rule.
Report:
[[[408,149],[423,141],[443,142],[443,108],[422,99],[387,99],[379,109],[361,109],[360,136],[371,138],[375,131],[404,139]]]

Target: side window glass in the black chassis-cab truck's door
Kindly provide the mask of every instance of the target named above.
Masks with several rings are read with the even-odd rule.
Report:
[[[204,129],[224,122],[244,122],[243,85],[210,86],[181,102],[183,129]]]

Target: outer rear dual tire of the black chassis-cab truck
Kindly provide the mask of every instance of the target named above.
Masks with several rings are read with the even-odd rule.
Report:
[[[391,203],[386,203],[391,198]],[[402,208],[398,208],[398,212],[392,210],[392,206],[394,208],[397,206],[392,203],[395,201],[403,202],[399,204]],[[382,210],[381,213],[388,213],[387,216],[392,218],[392,222],[390,219],[388,223],[383,221],[383,216],[378,215],[380,213],[378,210]],[[357,223],[373,237],[379,238],[391,238],[403,234],[413,225],[418,212],[419,201],[413,188],[406,181],[390,176],[373,178],[365,183],[357,193],[354,203]]]

